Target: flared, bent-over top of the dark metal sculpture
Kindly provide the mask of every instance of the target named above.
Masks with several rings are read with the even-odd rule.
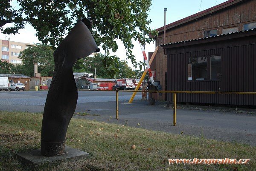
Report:
[[[87,18],[79,20],[67,37],[59,44],[55,52],[65,51],[65,63],[74,64],[76,60],[87,57],[100,49],[95,43],[93,35],[90,32],[92,21]]]

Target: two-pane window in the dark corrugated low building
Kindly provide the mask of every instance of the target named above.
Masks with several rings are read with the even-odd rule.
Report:
[[[221,56],[191,57],[188,59],[188,80],[189,81],[220,80],[220,79],[221,79]]]

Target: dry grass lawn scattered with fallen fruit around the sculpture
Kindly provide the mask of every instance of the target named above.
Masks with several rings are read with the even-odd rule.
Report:
[[[0,170],[29,170],[15,153],[40,148],[42,114],[0,111]],[[102,129],[101,129],[102,128]],[[119,129],[119,131],[117,131]],[[19,135],[18,131],[22,134]],[[131,149],[131,145],[136,145]],[[90,154],[38,170],[255,170],[256,147],[72,119],[67,142]],[[249,165],[169,165],[169,158],[250,158]]]

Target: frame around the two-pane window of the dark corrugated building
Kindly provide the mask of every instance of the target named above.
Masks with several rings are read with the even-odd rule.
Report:
[[[221,79],[219,80],[212,80],[211,78],[211,63],[210,63],[210,57],[215,57],[215,56],[220,56],[221,57]],[[189,64],[189,58],[195,58],[195,57],[207,57],[207,77],[209,78],[208,80],[189,80],[189,73],[188,73],[188,64]],[[186,82],[207,82],[207,81],[222,81],[223,79],[223,74],[222,74],[222,56],[221,54],[212,54],[212,55],[202,55],[202,56],[192,56],[192,57],[187,57],[186,58]]]

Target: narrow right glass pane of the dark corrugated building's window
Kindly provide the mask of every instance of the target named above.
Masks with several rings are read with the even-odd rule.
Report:
[[[211,80],[221,80],[221,56],[210,57]]]

